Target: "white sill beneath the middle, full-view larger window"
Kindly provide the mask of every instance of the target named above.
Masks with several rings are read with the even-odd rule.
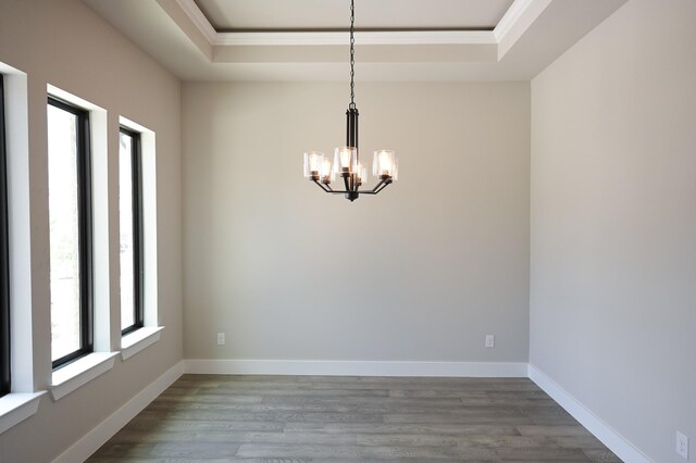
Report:
[[[49,388],[53,401],[60,400],[75,389],[86,385],[97,376],[113,367],[119,352],[95,352],[67,366],[53,372]]]

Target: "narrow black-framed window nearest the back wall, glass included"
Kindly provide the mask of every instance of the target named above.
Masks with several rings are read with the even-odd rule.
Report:
[[[121,333],[144,326],[142,160],[140,134],[121,127],[119,150]]]

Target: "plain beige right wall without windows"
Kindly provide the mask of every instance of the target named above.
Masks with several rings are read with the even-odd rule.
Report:
[[[632,0],[532,83],[531,363],[660,463],[696,439],[695,18]]]

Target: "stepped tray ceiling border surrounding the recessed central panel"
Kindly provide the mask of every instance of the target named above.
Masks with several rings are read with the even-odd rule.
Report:
[[[221,34],[198,0],[82,1],[186,82],[345,79],[345,30]],[[359,30],[360,75],[371,82],[529,82],[626,1],[512,0],[493,30]],[[426,0],[413,4],[430,8]]]

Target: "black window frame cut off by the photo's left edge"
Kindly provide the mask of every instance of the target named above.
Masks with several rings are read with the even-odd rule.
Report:
[[[0,74],[0,397],[12,391],[10,329],[10,229],[8,216],[8,151],[4,76]]]

